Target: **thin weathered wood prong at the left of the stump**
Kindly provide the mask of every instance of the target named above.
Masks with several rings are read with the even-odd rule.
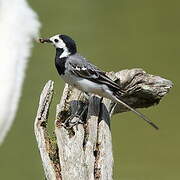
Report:
[[[48,81],[41,93],[39,107],[34,122],[34,132],[46,179],[60,180],[60,166],[59,163],[52,159],[51,155],[54,152],[54,149],[47,131],[48,111],[53,96],[53,84],[52,81]]]

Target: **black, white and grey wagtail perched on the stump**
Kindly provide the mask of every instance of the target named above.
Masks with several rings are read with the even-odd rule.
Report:
[[[39,41],[52,43],[56,48],[55,65],[59,75],[66,83],[83,92],[94,93],[124,105],[155,129],[158,129],[146,116],[121,100],[120,86],[112,81],[105,72],[78,54],[76,43],[72,38],[67,35],[55,35],[50,38],[40,38]]]

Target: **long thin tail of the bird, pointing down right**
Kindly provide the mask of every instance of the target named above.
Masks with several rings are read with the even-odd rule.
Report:
[[[126,108],[128,108],[129,110],[131,110],[132,112],[134,112],[135,114],[137,114],[138,116],[140,116],[144,121],[146,121],[148,124],[150,124],[152,127],[154,127],[156,130],[159,129],[158,126],[156,126],[149,118],[147,118],[144,114],[142,114],[141,112],[135,110],[134,108],[130,107],[129,105],[127,105],[125,102],[123,102],[122,100],[120,100],[119,98],[117,98],[116,96],[114,96],[115,100],[122,104],[123,106],[125,106]]]

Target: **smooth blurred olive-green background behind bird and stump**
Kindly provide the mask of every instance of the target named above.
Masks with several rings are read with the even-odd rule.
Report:
[[[180,1],[37,1],[29,4],[42,22],[41,35],[72,36],[82,55],[105,71],[141,67],[174,82],[162,102],[141,111],[157,132],[133,113],[113,117],[115,180],[179,180]],[[27,22],[28,23],[28,22]],[[0,147],[0,179],[44,179],[33,123],[39,94],[55,81],[51,126],[64,83],[54,67],[55,50],[34,43],[15,123]]]

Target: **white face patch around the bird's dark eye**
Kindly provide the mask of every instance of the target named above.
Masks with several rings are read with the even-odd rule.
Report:
[[[60,55],[60,58],[63,58],[63,57],[68,57],[70,55],[70,52],[68,51],[68,48],[66,47],[66,44],[64,43],[64,41],[59,37],[59,35],[55,35],[55,36],[52,36],[51,38],[49,38],[52,42],[53,42],[53,45],[56,47],[56,48],[60,48],[60,49],[63,49],[63,53]]]

